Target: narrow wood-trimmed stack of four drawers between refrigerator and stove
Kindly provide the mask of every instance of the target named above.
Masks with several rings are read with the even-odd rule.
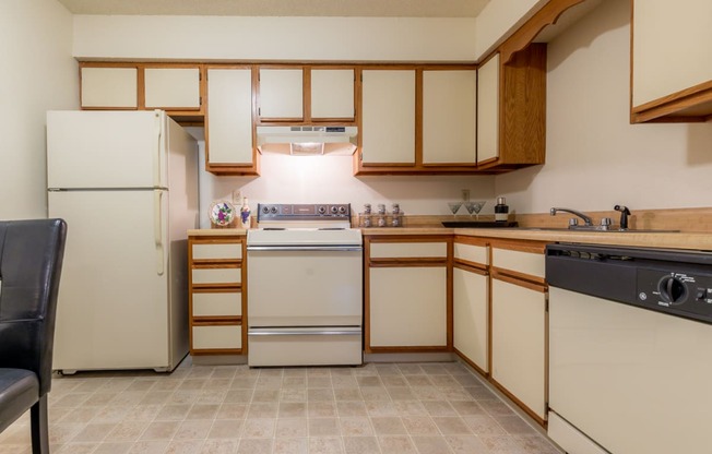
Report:
[[[245,237],[188,238],[191,355],[247,353]]]

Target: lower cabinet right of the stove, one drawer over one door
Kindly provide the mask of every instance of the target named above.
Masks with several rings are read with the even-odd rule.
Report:
[[[452,349],[451,236],[366,236],[366,353]]]

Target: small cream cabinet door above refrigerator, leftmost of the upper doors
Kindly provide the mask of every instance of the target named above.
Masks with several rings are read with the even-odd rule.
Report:
[[[87,68],[81,70],[82,107],[138,108],[137,68]]]

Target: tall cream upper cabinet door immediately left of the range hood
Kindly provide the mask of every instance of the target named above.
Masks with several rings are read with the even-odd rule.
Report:
[[[209,164],[252,165],[252,70],[207,70]]]

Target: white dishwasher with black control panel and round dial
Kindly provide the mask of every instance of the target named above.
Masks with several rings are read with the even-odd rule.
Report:
[[[548,434],[569,454],[711,453],[712,253],[550,244]]]

